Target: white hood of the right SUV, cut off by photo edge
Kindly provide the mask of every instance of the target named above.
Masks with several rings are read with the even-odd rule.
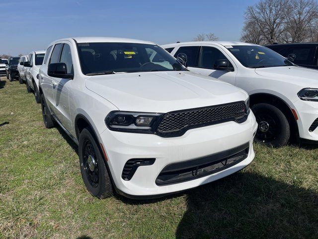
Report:
[[[302,87],[318,87],[318,70],[300,66],[267,67],[255,69],[266,78],[285,81]]]

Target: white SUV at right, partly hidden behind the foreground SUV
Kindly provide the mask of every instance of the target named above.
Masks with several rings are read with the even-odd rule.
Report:
[[[318,71],[295,66],[267,47],[249,43],[202,41],[163,47],[176,57],[184,53],[179,56],[187,56],[192,72],[249,94],[258,122],[255,141],[271,146],[299,138],[318,142]]]

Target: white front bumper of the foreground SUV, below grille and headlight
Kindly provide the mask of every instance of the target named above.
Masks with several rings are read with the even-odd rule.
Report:
[[[155,134],[125,133],[106,129],[101,140],[108,166],[118,192],[131,197],[158,197],[194,188],[233,174],[254,158],[253,136],[257,123],[253,113],[242,123],[234,121],[188,130],[184,135],[163,138]],[[238,147],[247,143],[248,154],[232,167],[190,181],[157,185],[156,179],[167,165]],[[156,158],[152,165],[140,166],[129,181],[122,178],[125,163],[136,158]]]

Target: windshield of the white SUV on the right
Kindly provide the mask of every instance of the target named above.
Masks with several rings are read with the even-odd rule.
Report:
[[[292,66],[293,64],[275,51],[264,46],[226,46],[248,68]]]

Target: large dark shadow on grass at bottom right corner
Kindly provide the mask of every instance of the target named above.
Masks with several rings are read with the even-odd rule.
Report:
[[[237,173],[187,192],[176,238],[318,238],[318,194]]]

